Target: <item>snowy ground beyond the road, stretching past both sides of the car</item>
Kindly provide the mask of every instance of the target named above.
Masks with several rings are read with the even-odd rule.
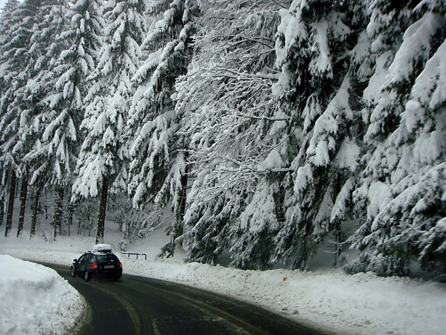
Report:
[[[156,258],[166,242],[162,228],[149,238],[128,245],[128,252],[146,253],[136,259],[116,253],[125,274],[182,283],[247,301],[285,317],[337,334],[440,335],[446,329],[446,285],[409,278],[381,278],[372,273],[353,276],[319,266],[317,270],[245,271],[198,263],[186,264],[178,252]],[[43,231],[43,230],[42,230]],[[40,233],[39,233],[40,234]],[[51,236],[50,231],[45,236]],[[119,231],[107,229],[105,243],[118,247]],[[29,231],[16,238],[0,237],[0,254],[27,260],[70,265],[95,244],[95,237],[74,235],[45,241],[29,240]],[[332,255],[330,255],[332,256]],[[77,278],[77,280],[81,280]],[[45,321],[42,321],[44,323]]]

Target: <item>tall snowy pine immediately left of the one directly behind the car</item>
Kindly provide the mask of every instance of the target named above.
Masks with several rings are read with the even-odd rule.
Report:
[[[58,195],[55,236],[61,231],[63,198],[66,190],[71,190],[82,143],[79,126],[84,116],[83,99],[91,86],[86,78],[96,68],[105,25],[102,6],[102,0],[78,0],[69,7],[67,22],[54,38],[48,51],[51,60],[41,77],[46,96],[36,119],[44,130],[25,160],[34,167],[31,184],[36,196],[43,187],[54,187]]]

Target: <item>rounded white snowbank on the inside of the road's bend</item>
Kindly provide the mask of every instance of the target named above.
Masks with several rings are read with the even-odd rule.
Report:
[[[0,334],[71,334],[82,296],[56,271],[0,255]]]

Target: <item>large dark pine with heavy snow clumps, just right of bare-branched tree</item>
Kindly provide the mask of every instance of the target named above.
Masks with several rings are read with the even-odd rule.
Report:
[[[297,151],[284,178],[285,222],[274,237],[273,261],[305,269],[319,244],[340,229],[351,208],[361,120],[351,102],[363,10],[356,1],[295,0],[281,10],[276,54]],[[359,128],[359,129],[358,129]]]

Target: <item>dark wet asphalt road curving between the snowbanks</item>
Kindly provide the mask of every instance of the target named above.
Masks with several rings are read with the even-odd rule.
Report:
[[[68,267],[44,264],[56,270],[90,305],[90,315],[80,335],[155,334],[321,335],[289,319],[194,288],[124,275],[113,282],[70,277]]]

